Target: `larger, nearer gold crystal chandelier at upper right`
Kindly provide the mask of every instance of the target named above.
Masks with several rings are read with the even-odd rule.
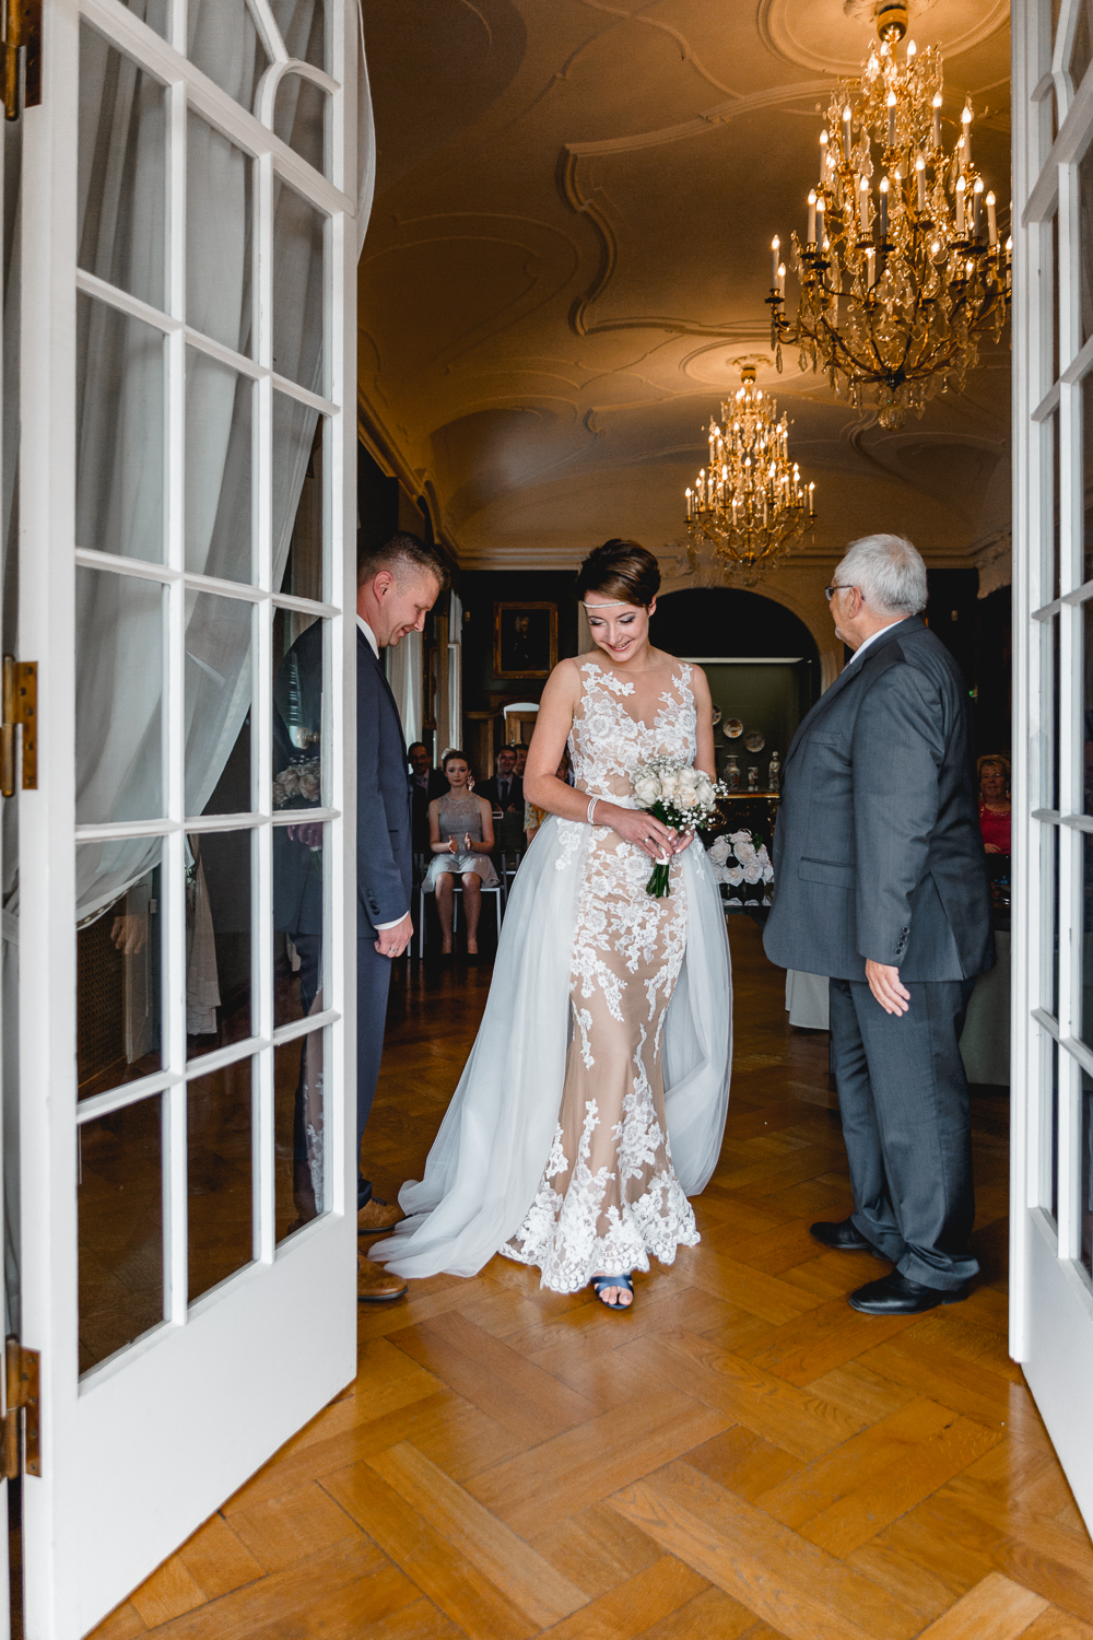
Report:
[[[785,262],[772,244],[772,348],[800,348],[862,407],[877,389],[880,425],[901,426],[949,385],[964,389],[978,336],[1001,336],[1013,241],[998,239],[993,192],[972,159],[972,105],[946,149],[942,62],[908,41],[906,5],[882,0],[880,46],[857,84],[841,87],[819,136],[819,185],[808,195],[808,238],[793,233],[796,318],[785,313]]]

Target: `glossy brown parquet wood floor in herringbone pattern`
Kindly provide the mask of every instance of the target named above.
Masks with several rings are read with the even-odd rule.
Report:
[[[701,1246],[613,1315],[505,1260],[361,1312],[361,1366],[95,1640],[1093,1640],[1093,1548],[1006,1355],[1006,1120],[975,1100],[983,1276],[877,1320],[826,1036],[731,923],[736,1068]],[[488,973],[397,987],[369,1133],[420,1176]],[[306,1346],[306,1340],[302,1340]]]

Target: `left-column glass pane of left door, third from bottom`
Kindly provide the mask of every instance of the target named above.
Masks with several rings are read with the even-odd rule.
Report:
[[[164,589],[75,571],[75,818],[164,812]]]

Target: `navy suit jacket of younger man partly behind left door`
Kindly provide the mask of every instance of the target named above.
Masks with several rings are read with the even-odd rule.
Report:
[[[274,772],[315,758],[293,748],[293,718],[318,730],[323,720],[323,622],[303,631],[274,684]],[[306,809],[300,815],[306,820]],[[357,935],[410,910],[413,856],[406,743],[382,661],[357,628]],[[323,933],[323,856],[274,828],[274,922],[288,935]]]

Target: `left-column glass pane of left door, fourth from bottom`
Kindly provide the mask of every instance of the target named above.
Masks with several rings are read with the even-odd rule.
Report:
[[[75,298],[75,544],[164,558],[164,336]]]

